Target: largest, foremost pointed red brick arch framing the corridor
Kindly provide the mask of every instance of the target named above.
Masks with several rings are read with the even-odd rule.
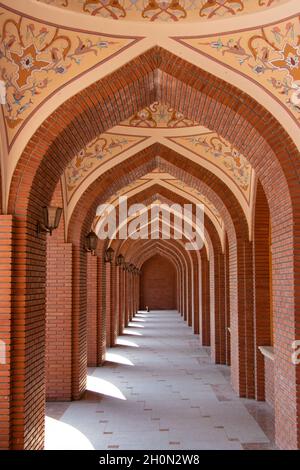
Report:
[[[235,145],[248,158],[265,190],[271,213],[273,284],[276,287],[273,305],[275,384],[278,389],[275,408],[277,443],[281,447],[297,448],[300,433],[297,419],[292,417],[295,409],[299,408],[297,387],[300,372],[291,364],[290,347],[300,334],[296,318],[300,299],[295,295],[300,279],[299,152],[285,130],[255,100],[236,87],[158,47],[64,103],[36,131],[16,165],[9,192],[8,212],[16,217],[16,253],[25,253],[22,257],[16,254],[16,272],[25,272],[26,276],[18,275],[16,278],[13,308],[16,312],[16,336],[20,339],[19,344],[23,340],[26,343],[23,350],[15,350],[15,376],[22,376],[24,382],[21,386],[18,383],[13,387],[17,392],[12,396],[12,401],[22,403],[20,412],[24,412],[26,428],[13,411],[12,442],[17,448],[39,448],[43,440],[44,391],[40,377],[44,370],[45,240],[44,237],[37,240],[35,236],[41,207],[49,204],[56,184],[74,152],[154,100],[161,100],[179,109],[188,118],[218,132]],[[236,255],[230,251],[233,260]],[[245,277],[243,266],[249,257],[247,247],[246,252],[245,259],[235,260],[232,276],[234,270],[238,270],[242,278]],[[81,273],[78,274],[79,278],[84,277],[84,260],[81,254],[77,258],[76,272]],[[81,287],[79,309],[82,309],[83,314],[86,299]],[[232,331],[239,333],[238,314],[243,315],[243,305],[247,301],[242,291],[237,299],[235,296],[232,298],[233,303],[240,303],[231,326]],[[251,293],[247,289],[244,291],[247,296]],[[288,305],[283,305],[284,298],[289,299]],[[31,322],[25,322],[25,327],[24,318],[32,319]],[[285,325],[284,329],[282,325]],[[245,340],[243,335],[236,335],[236,338]],[[29,347],[31,344],[34,344],[33,348]],[[238,349],[234,342],[232,347]],[[232,357],[240,361],[238,354],[233,353]],[[33,364],[34,368],[31,367]],[[233,364],[235,369],[239,365],[240,362]],[[31,398],[25,386],[29,375],[35,384]],[[239,374],[234,379],[234,386],[239,391],[240,382]],[[75,388],[76,396],[83,390],[84,381]],[[33,437],[32,429],[38,431],[38,438]]]

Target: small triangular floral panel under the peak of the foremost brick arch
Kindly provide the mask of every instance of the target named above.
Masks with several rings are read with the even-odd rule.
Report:
[[[179,111],[156,101],[122,122],[121,125],[145,128],[178,128],[197,126],[198,124],[187,119]]]

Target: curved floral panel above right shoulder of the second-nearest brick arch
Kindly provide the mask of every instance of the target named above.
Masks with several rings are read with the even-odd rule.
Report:
[[[248,200],[252,168],[247,159],[229,142],[215,132],[186,137],[172,137],[171,140],[206,158],[225,171]]]

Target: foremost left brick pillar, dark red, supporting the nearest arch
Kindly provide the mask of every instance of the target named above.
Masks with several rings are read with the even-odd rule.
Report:
[[[39,450],[45,428],[46,237],[37,237],[36,219],[14,220],[11,449]]]

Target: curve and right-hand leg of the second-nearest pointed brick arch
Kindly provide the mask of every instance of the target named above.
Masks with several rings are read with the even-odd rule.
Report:
[[[236,330],[236,335],[233,335],[236,340],[232,342],[232,382],[241,396],[252,397],[254,393],[253,372],[251,367],[246,366],[246,358],[249,362],[249,354],[250,357],[253,357],[253,349],[247,350],[249,342],[246,340],[249,334],[247,331],[248,324],[253,322],[252,273],[249,275],[247,272],[252,262],[252,247],[248,239],[248,225],[242,208],[229,188],[209,171],[199,168],[197,164],[192,162],[187,164],[188,171],[183,170],[181,167],[185,167],[186,162],[182,155],[161,145],[151,146],[150,150],[153,152],[152,160],[143,151],[136,155],[136,160],[135,157],[131,159],[131,164],[142,159],[140,166],[133,165],[135,170],[130,171],[130,162],[126,160],[114,169],[109,170],[107,172],[108,177],[105,177],[104,181],[99,178],[85,191],[78,201],[69,224],[69,240],[78,245],[80,239],[83,239],[84,236],[84,233],[80,230],[84,227],[85,233],[87,232],[98,204],[104,203],[109,195],[114,194],[124,184],[127,186],[131,180],[136,179],[136,175],[146,174],[149,169],[159,168],[162,171],[167,171],[188,185],[200,190],[218,209],[227,230],[230,247],[232,331]],[[159,154],[159,157],[157,157],[157,154]],[[148,158],[145,164],[143,161],[146,157]],[[118,170],[120,170],[120,173]],[[100,195],[99,188],[103,191]],[[155,186],[151,189],[154,192]],[[161,189],[159,191],[162,192]],[[164,193],[166,191],[164,189]],[[170,199],[172,200],[172,197]],[[184,198],[181,201],[182,203],[189,202]],[[136,199],[131,198],[130,203],[133,202],[139,202],[138,196]],[[76,237],[76,239],[73,239],[73,237]]]

